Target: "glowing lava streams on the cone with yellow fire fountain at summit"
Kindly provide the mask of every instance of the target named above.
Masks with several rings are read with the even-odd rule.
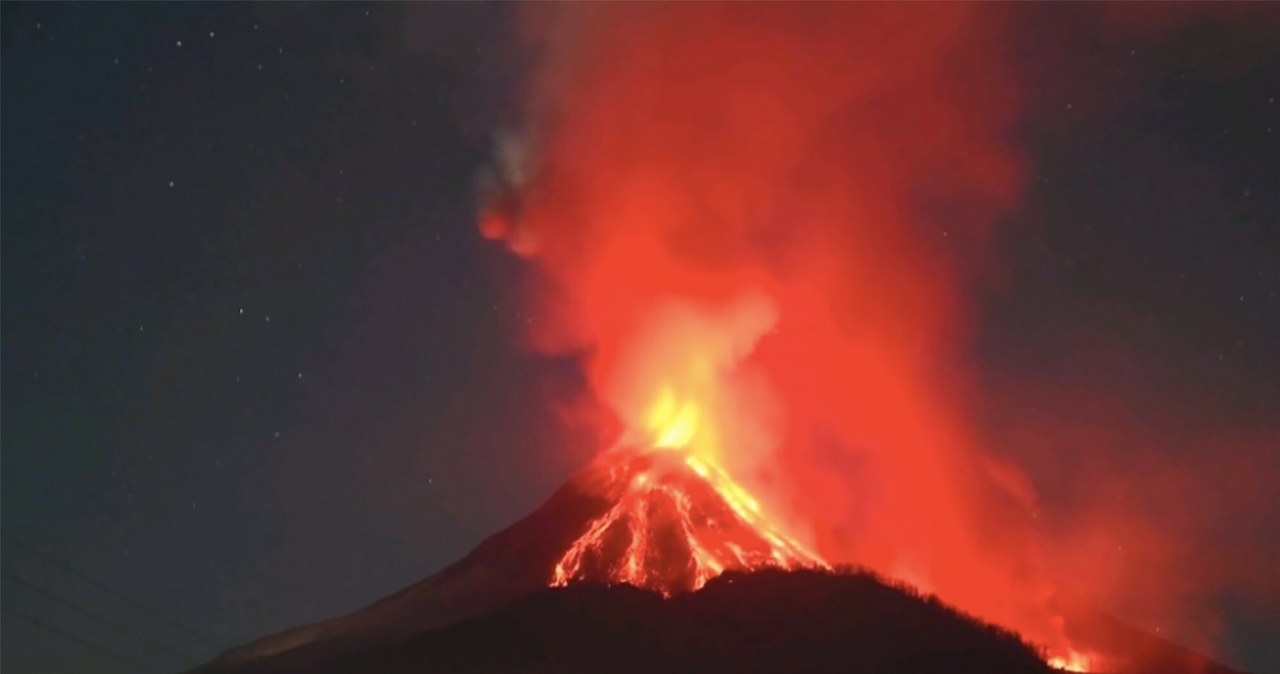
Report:
[[[724,471],[689,451],[698,416],[694,404],[664,394],[650,413],[650,449],[600,458],[609,462],[613,505],[573,541],[550,584],[627,583],[671,595],[726,569],[827,567],[771,524]]]

